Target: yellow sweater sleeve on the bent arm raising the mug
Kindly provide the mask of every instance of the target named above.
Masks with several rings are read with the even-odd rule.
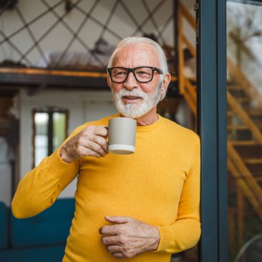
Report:
[[[66,141],[81,129],[83,125],[74,130]],[[12,199],[12,213],[18,219],[34,216],[49,208],[61,191],[77,177],[79,161],[65,163],[59,152],[60,148],[21,179]]]

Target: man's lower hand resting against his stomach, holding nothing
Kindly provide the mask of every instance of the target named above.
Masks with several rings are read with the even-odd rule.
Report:
[[[127,216],[105,216],[116,225],[99,228],[101,241],[117,259],[128,259],[146,251],[155,251],[159,245],[159,230]]]

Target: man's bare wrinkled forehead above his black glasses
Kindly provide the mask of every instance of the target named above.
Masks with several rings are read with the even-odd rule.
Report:
[[[155,66],[160,67],[159,53],[154,46],[149,44],[130,44],[123,46],[114,55],[112,66],[137,67]]]

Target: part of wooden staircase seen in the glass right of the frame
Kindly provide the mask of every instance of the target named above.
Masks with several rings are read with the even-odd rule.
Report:
[[[262,219],[262,109],[252,105],[260,94],[230,59],[228,69],[228,170]]]

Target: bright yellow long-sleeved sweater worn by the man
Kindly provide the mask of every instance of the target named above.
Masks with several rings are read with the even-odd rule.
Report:
[[[70,137],[87,125],[108,125],[108,119],[85,123]],[[105,215],[132,216],[159,228],[157,252],[123,261],[168,262],[172,252],[199,241],[199,170],[199,137],[159,116],[152,125],[137,127],[134,154],[83,157],[70,164],[60,159],[59,150],[46,157],[19,183],[12,212],[26,218],[49,208],[79,174],[63,262],[119,261],[101,243],[98,230],[109,224]]]

